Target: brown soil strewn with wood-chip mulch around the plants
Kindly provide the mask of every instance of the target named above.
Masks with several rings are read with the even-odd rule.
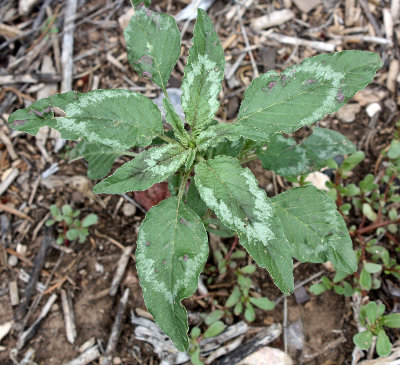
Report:
[[[35,5],[23,15],[17,1],[0,1],[2,181],[11,171],[18,172],[12,184],[0,196],[0,326],[14,322],[10,333],[4,339],[0,338],[0,364],[22,364],[22,359],[30,349],[34,350],[33,359],[37,364],[63,364],[76,358],[80,354],[80,347],[91,339],[104,351],[120,298],[126,288],[130,289],[128,308],[113,354],[114,364],[159,364],[160,360],[152,346],[135,338],[135,326],[130,321],[131,311],[137,313],[138,309],[145,310],[134,255],[128,263],[117,294],[109,295],[124,247],[136,247],[137,231],[144,213],[136,209],[132,214],[132,205],[122,196],[94,196],[91,192],[93,182],[86,177],[86,163],[69,163],[66,158],[68,150],[74,146],[73,142],[68,142],[56,153],[52,135],[44,134],[37,139],[7,127],[8,115],[36,100],[41,91],[60,91],[60,53],[67,2],[35,1]],[[189,2],[159,0],[153,1],[151,7],[176,15]],[[335,51],[362,49],[377,52],[384,61],[384,67],[367,91],[359,93],[350,102],[356,109],[354,116],[352,117],[351,110],[347,110],[342,115],[327,116],[319,123],[322,127],[340,131],[366,153],[366,160],[355,170],[352,177],[354,181],[359,181],[368,172],[373,173],[380,151],[390,143],[395,122],[399,120],[399,18],[392,16],[391,31],[389,21],[384,22],[384,13],[387,16],[393,3],[399,2],[247,0],[241,3],[245,4],[244,8],[237,8],[238,5],[233,1],[216,0],[208,11],[221,39],[227,63],[232,66],[241,54],[245,55],[232,77],[224,80],[218,119],[226,122],[236,117],[243,91],[254,77],[249,54],[239,52],[247,46],[247,41],[243,38],[237,12],[241,14],[241,22],[250,46],[254,46],[251,52],[260,73],[270,69],[282,70],[305,57],[323,52],[316,42],[333,44]],[[310,6],[309,9],[306,9],[307,5]],[[140,91],[151,98],[159,95],[160,90],[148,80],[139,77],[128,64],[121,17],[129,9],[128,0],[78,1],[73,48],[74,90],[86,92],[94,88],[127,88]],[[293,12],[293,17],[268,29],[254,29],[254,19],[283,9]],[[182,41],[182,56],[172,73],[170,87],[180,86],[193,24],[193,21],[179,22],[179,28],[187,26],[187,31]],[[282,38],[271,37],[272,32],[311,42],[287,44]],[[11,80],[7,81],[7,76]],[[375,120],[366,112],[366,107],[374,102],[381,107],[379,117]],[[309,129],[305,128],[299,133],[308,134]],[[122,162],[123,159],[119,159],[115,167]],[[43,179],[42,173],[51,166],[57,169],[56,172]],[[272,175],[262,170],[258,164],[252,163],[250,167],[255,172],[260,187],[266,189],[268,195],[273,195]],[[290,184],[286,181],[278,180],[279,192],[289,187]],[[136,195],[128,193],[127,196],[146,208],[157,202],[157,195],[163,194],[166,194],[165,185],[158,186],[156,192],[153,190]],[[38,278],[38,282],[45,285],[44,294],[28,317],[25,329],[38,318],[51,294],[56,294],[57,299],[32,339],[20,351],[16,351],[22,320],[16,320],[19,305],[11,305],[9,283],[17,283],[21,302],[27,286],[21,280],[21,275],[23,272],[28,273],[28,276],[32,273],[43,240],[56,237],[53,229],[45,227],[52,204],[59,207],[70,204],[74,209],[81,210],[81,216],[96,213],[99,222],[90,228],[89,239],[84,244],[50,244]],[[131,212],[128,212],[129,209]],[[354,217],[354,220],[357,219]],[[232,240],[223,239],[221,242],[229,249]],[[11,256],[16,256],[18,260],[10,261]],[[245,265],[247,262],[244,259],[238,261],[238,264]],[[210,255],[207,267],[213,264],[213,256]],[[308,287],[322,274],[332,277],[333,273],[323,265],[301,264],[295,269],[295,281],[302,282],[318,273],[319,276],[301,287],[303,292],[300,294],[306,297],[303,303],[299,303],[295,296],[288,298],[289,328],[295,328],[294,324],[297,323],[300,326],[299,333],[303,336],[302,348],[295,349],[292,346],[289,353],[296,364],[350,364],[354,348],[352,337],[357,331],[350,300],[332,292],[325,292],[318,297],[308,293]],[[270,300],[280,297],[279,290],[266,271],[258,270],[254,274],[253,282],[254,291],[260,295],[267,296]],[[190,311],[209,313],[211,309],[215,309],[211,298],[224,303],[235,284],[234,277],[228,274],[221,282],[215,281],[213,284],[222,285],[222,289],[218,285],[209,288],[210,293],[215,292],[210,298],[201,299],[200,294],[195,293],[192,298],[184,301]],[[66,337],[61,290],[65,290],[73,302],[77,332],[74,344],[69,343]],[[32,303],[38,297],[39,292],[34,291],[28,307],[32,308]],[[283,301],[273,311],[263,312],[257,309],[256,314],[257,318],[252,326],[282,323]],[[23,318],[27,318],[26,313]],[[242,318],[235,317],[232,323],[240,319]],[[283,349],[282,336],[271,346]],[[92,363],[98,364],[99,360]]]

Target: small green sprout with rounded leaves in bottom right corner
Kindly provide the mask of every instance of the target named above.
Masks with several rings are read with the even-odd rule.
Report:
[[[366,329],[353,337],[354,343],[362,350],[369,350],[376,336],[376,352],[379,356],[388,356],[392,344],[384,327],[400,328],[400,313],[384,315],[385,305],[369,302],[360,309],[360,323]]]

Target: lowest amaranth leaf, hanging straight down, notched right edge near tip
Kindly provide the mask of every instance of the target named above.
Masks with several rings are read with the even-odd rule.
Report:
[[[137,240],[136,267],[146,307],[180,351],[189,347],[186,310],[208,257],[208,237],[193,210],[169,198],[152,207]]]

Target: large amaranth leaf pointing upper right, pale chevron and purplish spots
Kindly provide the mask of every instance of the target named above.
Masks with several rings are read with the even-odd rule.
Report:
[[[250,84],[234,124],[255,141],[292,133],[339,110],[381,66],[376,53],[352,50],[307,58],[281,74],[270,71]]]

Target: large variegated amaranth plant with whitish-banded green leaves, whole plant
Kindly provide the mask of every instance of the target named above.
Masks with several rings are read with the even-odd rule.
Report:
[[[97,178],[109,172],[117,156],[136,155],[127,150],[153,142],[153,147],[98,183],[95,193],[145,190],[178,172],[176,196],[147,212],[136,251],[146,306],[176,347],[188,349],[188,320],[181,300],[196,290],[208,257],[208,237],[196,213],[196,199],[185,203],[188,179],[196,187],[194,195],[201,197],[196,201],[202,200],[236,232],[241,245],[268,270],[283,293],[293,291],[292,258],[330,260],[336,268],[354,272],[357,261],[346,224],[328,195],[305,186],[270,199],[241,162],[254,158],[254,151],[270,150],[273,155],[276,146],[285,142],[282,133],[292,133],[340,109],[373,80],[382,65],[379,56],[362,51],[321,54],[282,73],[262,74],[245,92],[236,121],[218,123],[213,118],[219,108],[225,59],[210,18],[199,9],[181,86],[184,121],[166,92],[181,51],[174,18],[138,6],[124,36],[133,68],[163,90],[165,119],[173,132],[164,132],[161,113],[150,99],[128,90],[56,94],[14,112],[9,123],[32,135],[49,126],[63,138],[82,138],[88,143],[83,150],[89,151],[89,163],[96,166],[97,157],[101,171],[93,167],[89,174]],[[282,159],[278,167],[318,169],[320,155],[329,159],[354,152],[354,145],[339,133],[317,131],[318,137],[303,147],[302,159]],[[101,159],[104,163],[99,164]],[[280,161],[272,160],[275,169]]]

